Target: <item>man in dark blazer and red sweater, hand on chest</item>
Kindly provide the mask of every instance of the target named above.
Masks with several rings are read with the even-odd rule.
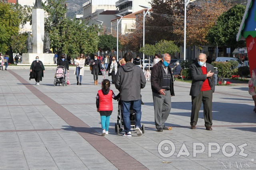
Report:
[[[196,129],[201,104],[204,104],[204,125],[206,130],[212,131],[212,93],[215,90],[215,76],[213,65],[206,63],[206,54],[200,53],[198,62],[191,64],[192,84],[190,96],[192,109],[190,125]]]

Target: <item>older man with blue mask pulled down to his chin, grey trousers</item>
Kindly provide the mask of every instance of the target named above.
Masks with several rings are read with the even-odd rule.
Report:
[[[155,111],[155,125],[158,132],[170,130],[164,125],[171,111],[171,96],[174,95],[171,57],[163,54],[162,60],[155,64],[151,71],[151,89]]]

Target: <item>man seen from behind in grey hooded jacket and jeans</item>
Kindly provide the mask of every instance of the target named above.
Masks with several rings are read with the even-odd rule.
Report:
[[[116,73],[116,89],[120,92],[122,103],[124,131],[123,136],[131,137],[130,106],[135,112],[135,130],[138,136],[142,135],[141,124],[141,97],[140,89],[146,85],[146,78],[142,69],[133,64],[133,55],[130,52],[124,54],[126,64],[121,66]]]

